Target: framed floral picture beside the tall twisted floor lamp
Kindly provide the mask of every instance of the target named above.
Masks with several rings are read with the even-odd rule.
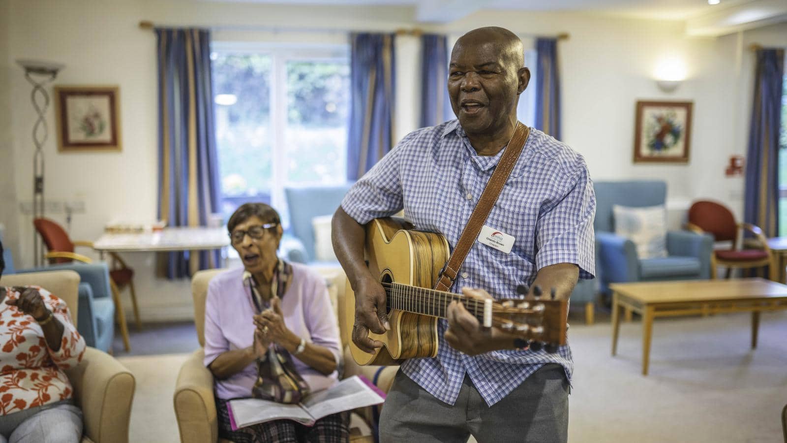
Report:
[[[54,95],[58,151],[120,151],[118,87],[56,86]]]

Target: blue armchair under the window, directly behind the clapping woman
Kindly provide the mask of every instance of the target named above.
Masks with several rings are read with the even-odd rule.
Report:
[[[285,188],[290,212],[290,233],[282,239],[283,255],[294,262],[316,260],[312,218],[334,214],[352,183],[336,186]]]

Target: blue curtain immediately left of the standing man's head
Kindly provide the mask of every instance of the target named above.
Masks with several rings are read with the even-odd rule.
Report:
[[[421,35],[421,128],[456,117],[448,95],[447,40],[445,35]]]

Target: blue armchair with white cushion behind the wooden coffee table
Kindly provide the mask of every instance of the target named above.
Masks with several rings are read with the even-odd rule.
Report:
[[[651,207],[667,199],[664,181],[597,181],[596,230],[600,290],[610,283],[693,280],[711,277],[713,237],[689,231],[667,232],[667,257],[639,259],[634,242],[615,235],[612,206]]]

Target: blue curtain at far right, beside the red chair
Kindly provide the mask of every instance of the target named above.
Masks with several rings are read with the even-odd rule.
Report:
[[[757,50],[749,125],[744,219],[766,236],[779,232],[779,128],[785,50]]]

